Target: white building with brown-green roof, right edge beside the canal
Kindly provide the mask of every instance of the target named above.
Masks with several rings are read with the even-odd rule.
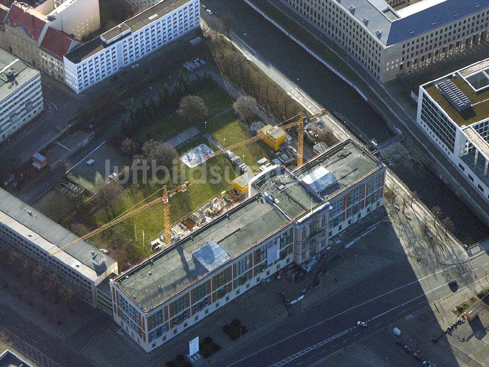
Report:
[[[420,86],[417,122],[489,201],[489,59]]]

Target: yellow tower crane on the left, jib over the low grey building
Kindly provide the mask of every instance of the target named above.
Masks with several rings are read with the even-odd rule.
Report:
[[[101,226],[95,230],[92,230],[91,232],[89,232],[87,234],[84,234],[83,236],[77,238],[74,241],[67,243],[66,245],[59,247],[55,251],[51,252],[49,254],[49,256],[52,256],[57,252],[64,251],[68,247],[74,245],[75,243],[84,241],[87,238],[90,238],[90,237],[94,236],[95,234],[98,234],[98,233],[108,229],[109,227],[112,227],[112,226],[126,220],[127,218],[132,217],[133,215],[135,215],[137,213],[140,213],[141,211],[149,208],[150,206],[154,206],[158,203],[163,203],[163,220],[165,222],[165,246],[170,246],[170,244],[171,244],[171,231],[170,231],[171,223],[170,223],[170,203],[169,203],[168,199],[171,198],[173,195],[179,193],[179,192],[187,191],[187,188],[190,186],[192,186],[192,183],[190,181],[186,181],[184,184],[178,185],[173,190],[168,191],[166,185],[164,185],[163,186],[163,195],[160,198],[157,198],[150,203],[146,203],[142,206],[139,206],[138,208],[131,210],[125,214],[119,215],[118,217],[112,219],[110,222],[104,224],[103,226]]]

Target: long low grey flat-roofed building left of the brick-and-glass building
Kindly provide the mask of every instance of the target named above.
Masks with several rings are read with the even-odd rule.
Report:
[[[58,246],[76,238],[75,234],[0,189],[0,241],[39,263],[46,271],[59,275],[84,301],[97,307],[97,286],[111,274],[118,274],[117,262],[85,241],[59,251]]]

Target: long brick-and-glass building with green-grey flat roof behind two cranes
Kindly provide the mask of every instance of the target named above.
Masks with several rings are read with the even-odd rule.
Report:
[[[113,318],[147,352],[383,205],[385,165],[345,140],[294,171],[271,166],[248,198],[111,280]]]

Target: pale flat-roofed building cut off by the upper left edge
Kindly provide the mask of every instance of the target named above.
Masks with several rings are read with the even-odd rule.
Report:
[[[41,111],[41,74],[0,49],[0,142]]]

